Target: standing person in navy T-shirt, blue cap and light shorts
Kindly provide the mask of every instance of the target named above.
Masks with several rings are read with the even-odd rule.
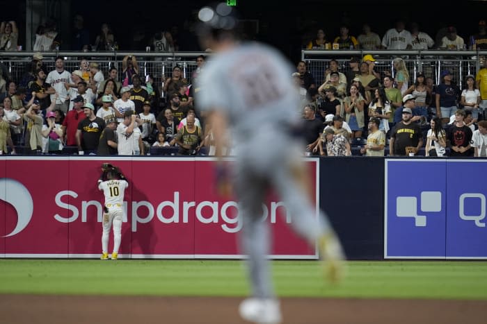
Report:
[[[452,74],[449,70],[442,71],[441,78],[443,82],[436,87],[436,116],[440,117],[445,125],[458,109],[461,91],[452,83]]]

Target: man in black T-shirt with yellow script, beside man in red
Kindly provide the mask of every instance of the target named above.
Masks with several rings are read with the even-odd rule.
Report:
[[[78,151],[84,154],[96,154],[98,150],[99,137],[105,129],[105,121],[95,116],[95,107],[91,103],[83,105],[83,112],[86,118],[78,123],[76,131],[76,142]]]

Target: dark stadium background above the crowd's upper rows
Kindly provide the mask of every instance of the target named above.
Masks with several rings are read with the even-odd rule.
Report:
[[[177,26],[179,42],[185,40],[196,45],[185,33],[184,21],[191,20],[193,13],[208,3],[207,1],[173,0],[173,1],[45,1],[47,6],[57,3],[57,8],[63,7],[71,12],[71,17],[63,18],[63,26],[72,26],[72,17],[82,15],[85,26],[90,31],[92,43],[99,33],[103,22],[111,24],[122,50],[144,50],[145,44],[134,42],[135,33],[143,33],[150,37],[157,29],[170,29]],[[26,17],[26,1],[0,1],[0,19],[15,19],[24,28]],[[67,9],[66,9],[67,8]],[[458,35],[465,40],[477,31],[479,19],[487,19],[487,1],[461,0],[453,4],[445,1],[358,1],[358,0],[301,0],[301,1],[265,1],[265,0],[237,0],[237,10],[243,19],[248,19],[250,37],[269,42],[278,47],[286,56],[297,60],[300,57],[301,36],[315,35],[317,28],[325,29],[328,39],[339,35],[342,22],[347,22],[351,28],[351,35],[360,33],[363,22],[371,24],[373,31],[381,37],[394,26],[397,19],[418,22],[422,31],[435,37],[436,31],[443,26],[456,26]],[[13,17],[13,13],[17,17]],[[259,33],[254,35],[255,21],[259,24]],[[66,28],[65,28],[66,29]],[[62,49],[70,49],[70,31],[61,30],[63,36]],[[141,46],[144,45],[144,46]],[[139,47],[140,46],[140,47]],[[193,50],[188,48],[188,50]],[[183,48],[184,49],[184,48]]]

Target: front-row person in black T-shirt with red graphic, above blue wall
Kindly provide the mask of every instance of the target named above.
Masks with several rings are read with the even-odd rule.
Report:
[[[465,111],[456,110],[455,120],[448,129],[448,141],[450,145],[450,156],[472,156],[473,153],[470,150],[472,148],[472,130],[465,125]]]

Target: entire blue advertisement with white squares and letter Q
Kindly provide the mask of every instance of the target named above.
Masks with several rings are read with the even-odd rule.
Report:
[[[384,258],[487,259],[486,160],[385,160]]]

